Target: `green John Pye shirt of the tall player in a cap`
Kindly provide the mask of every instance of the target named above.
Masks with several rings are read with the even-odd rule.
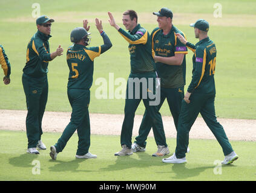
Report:
[[[151,33],[152,48],[154,54],[161,57],[172,57],[175,54],[188,54],[188,49],[177,39],[176,33],[185,34],[172,25],[171,31],[164,35],[163,30],[155,28]],[[165,63],[156,63],[156,71],[161,80],[161,87],[177,88],[186,83],[186,57],[182,65],[166,65]]]

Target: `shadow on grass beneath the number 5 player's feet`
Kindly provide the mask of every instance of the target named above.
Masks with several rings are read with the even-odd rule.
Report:
[[[71,171],[71,172],[91,172],[92,170],[78,169],[80,162],[86,162],[87,159],[74,159],[69,162],[59,161],[59,160],[49,160],[51,163],[57,163],[54,166],[49,167],[50,171],[53,172],[63,172],[63,171]]]

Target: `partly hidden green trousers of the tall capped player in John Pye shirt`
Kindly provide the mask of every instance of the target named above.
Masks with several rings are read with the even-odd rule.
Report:
[[[169,110],[171,111],[171,114],[172,114],[172,118],[174,119],[174,125],[177,130],[180,109],[182,106],[182,100],[184,98],[184,87],[183,86],[177,87],[175,89],[161,87],[160,92],[161,92],[161,97],[160,97],[161,100],[158,106],[159,110],[166,99],[168,102]],[[148,111],[145,110],[145,113],[142,119],[142,124],[140,124],[140,128],[139,128],[139,135],[135,138],[136,141],[134,141],[140,147],[144,147],[144,148],[146,147],[146,138],[148,137],[151,127],[152,127],[151,118],[148,115]],[[165,145],[165,147],[167,147],[164,131],[157,130],[155,127],[153,127],[153,133],[154,133],[156,144]]]

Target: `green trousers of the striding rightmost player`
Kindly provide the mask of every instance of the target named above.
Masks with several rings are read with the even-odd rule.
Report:
[[[185,157],[189,143],[189,131],[199,113],[222,147],[224,155],[226,156],[231,153],[233,151],[231,144],[228,141],[222,125],[217,121],[215,116],[215,95],[192,93],[189,100],[189,104],[187,104],[185,100],[182,101],[177,130],[176,157]]]

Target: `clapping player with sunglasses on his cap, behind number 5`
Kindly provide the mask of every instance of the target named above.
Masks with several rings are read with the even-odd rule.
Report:
[[[41,140],[42,118],[48,98],[48,63],[62,55],[61,45],[55,52],[50,53],[48,39],[51,35],[51,24],[54,19],[40,16],[36,19],[38,31],[31,37],[27,46],[27,62],[23,68],[22,84],[26,96],[27,118],[26,130],[28,138],[27,153],[39,154],[39,150],[46,150]]]

